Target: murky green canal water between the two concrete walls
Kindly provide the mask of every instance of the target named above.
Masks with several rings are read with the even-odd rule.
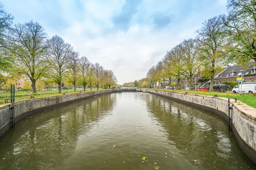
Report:
[[[221,117],[142,92],[44,111],[0,137],[1,170],[255,169]]]

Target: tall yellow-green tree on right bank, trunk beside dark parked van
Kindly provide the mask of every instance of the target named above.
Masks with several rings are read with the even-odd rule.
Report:
[[[226,55],[230,51],[230,41],[222,16],[208,19],[197,33],[204,77],[210,78],[210,91],[213,91],[214,76],[226,64]]]

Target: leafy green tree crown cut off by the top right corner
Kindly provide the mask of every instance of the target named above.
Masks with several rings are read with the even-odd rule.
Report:
[[[256,1],[228,0],[225,25],[235,45],[231,61],[244,64],[256,61]]]

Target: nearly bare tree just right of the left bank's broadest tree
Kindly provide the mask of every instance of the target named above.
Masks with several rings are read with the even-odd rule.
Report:
[[[68,74],[68,63],[71,60],[73,47],[65,43],[58,35],[47,40],[48,56],[51,61],[48,78],[50,83],[57,83],[61,93],[61,82]]]

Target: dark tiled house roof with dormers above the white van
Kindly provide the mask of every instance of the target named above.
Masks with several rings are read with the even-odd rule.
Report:
[[[255,72],[251,72],[252,69],[256,69],[256,63],[249,63],[246,66],[228,66],[220,74],[216,75],[214,79],[241,77],[241,70],[245,70],[244,76],[256,75]]]

